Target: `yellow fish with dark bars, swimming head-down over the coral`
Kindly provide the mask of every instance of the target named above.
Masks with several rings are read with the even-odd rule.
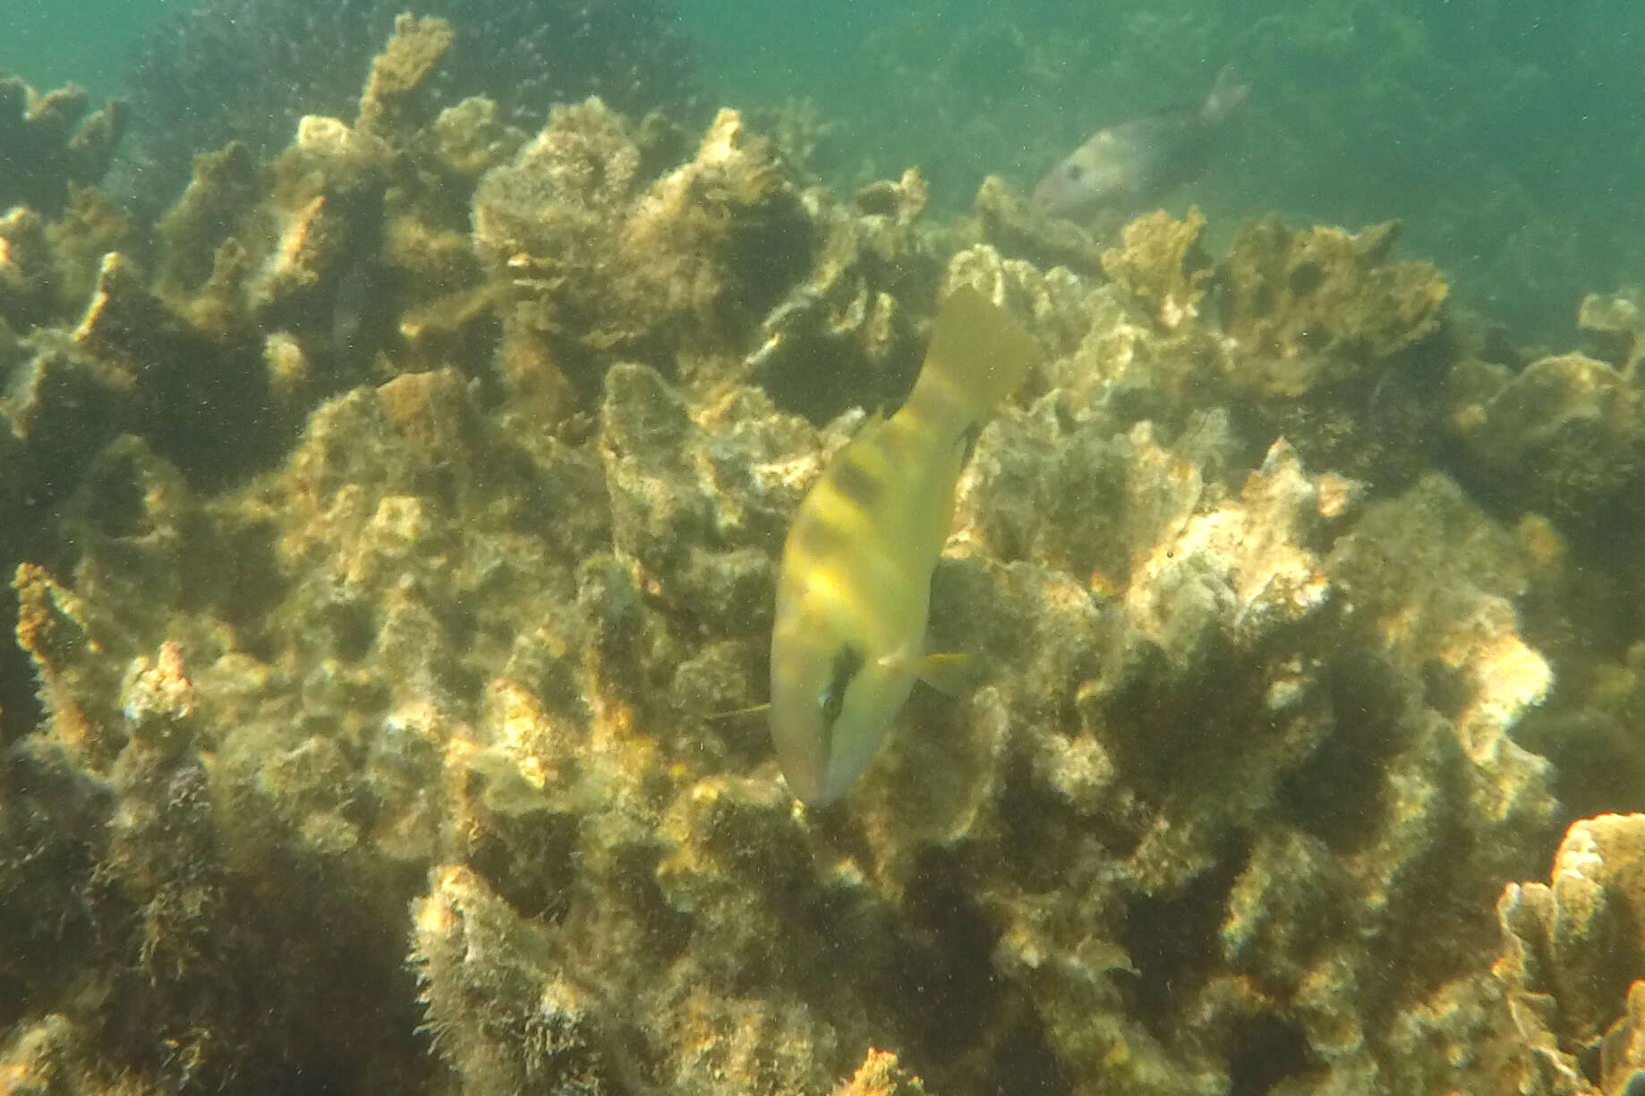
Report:
[[[943,304],[915,390],[839,451],[799,504],[776,583],[772,741],[806,803],[837,800],[867,769],[916,676],[931,571],[954,517],[972,430],[1038,351],[971,288]]]

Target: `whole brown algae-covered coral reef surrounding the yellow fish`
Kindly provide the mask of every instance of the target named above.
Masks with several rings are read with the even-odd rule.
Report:
[[[426,94],[461,33],[5,222],[10,1088],[1632,1083],[1635,370],[1390,227],[1076,272],[732,110],[528,135]],[[776,553],[957,286],[1043,351],[933,579],[984,673],[808,811]]]

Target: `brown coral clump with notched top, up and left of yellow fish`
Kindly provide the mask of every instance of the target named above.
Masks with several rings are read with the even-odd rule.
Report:
[[[811,219],[737,112],[661,179],[648,151],[592,99],[480,179],[474,237],[510,298],[503,354],[558,359],[584,392],[614,354],[683,372],[678,357],[740,339],[809,267]]]

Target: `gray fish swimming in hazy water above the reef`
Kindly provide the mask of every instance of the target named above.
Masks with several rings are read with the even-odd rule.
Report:
[[[1202,104],[1097,130],[1033,191],[1040,212],[1086,221],[1155,202],[1204,171],[1249,86],[1227,66]]]

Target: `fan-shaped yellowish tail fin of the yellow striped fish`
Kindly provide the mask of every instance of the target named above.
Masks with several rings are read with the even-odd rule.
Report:
[[[931,324],[908,406],[921,418],[948,418],[962,433],[1015,392],[1038,359],[1040,346],[1010,313],[959,286]]]

